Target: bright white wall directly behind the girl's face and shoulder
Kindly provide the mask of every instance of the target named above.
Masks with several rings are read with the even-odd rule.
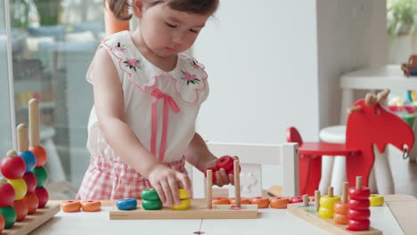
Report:
[[[315,1],[221,1],[194,48],[210,85],[204,139],[280,143],[289,126],[317,138],[315,25]]]

